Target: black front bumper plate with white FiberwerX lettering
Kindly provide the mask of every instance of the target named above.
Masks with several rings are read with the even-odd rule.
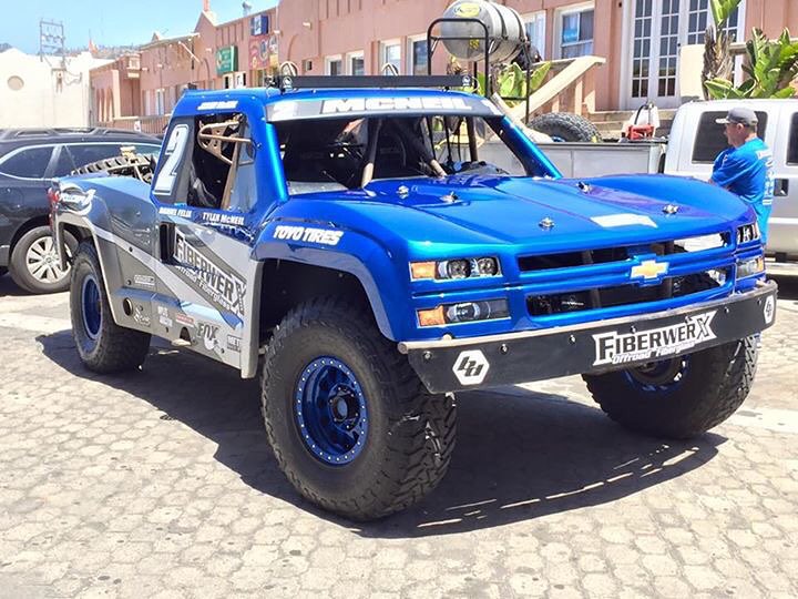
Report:
[[[431,393],[601,374],[741,339],[776,319],[773,281],[679,309],[484,337],[402,342]]]

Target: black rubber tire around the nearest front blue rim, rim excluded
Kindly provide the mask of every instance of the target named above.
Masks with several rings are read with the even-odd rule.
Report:
[[[262,375],[263,416],[280,469],[305,498],[352,520],[387,516],[430,493],[456,436],[453,396],[430,395],[365,314],[342,298],[300,304],[275,329]],[[368,398],[365,448],[346,465],[325,464],[299,436],[295,389],[318,356],[346,362]]]

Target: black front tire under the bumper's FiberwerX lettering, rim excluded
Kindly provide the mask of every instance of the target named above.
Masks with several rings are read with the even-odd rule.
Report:
[[[748,396],[757,365],[757,339],[746,337],[686,356],[684,379],[664,389],[643,389],[626,370],[584,375],[601,408],[636,433],[685,439],[732,416]]]

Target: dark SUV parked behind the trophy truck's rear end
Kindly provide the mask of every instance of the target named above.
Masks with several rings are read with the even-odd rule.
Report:
[[[0,130],[0,276],[6,271],[31,293],[69,287],[50,236],[50,180],[92,162],[117,156],[123,148],[157,154],[158,138],[113,129]],[[75,238],[66,235],[74,250]]]

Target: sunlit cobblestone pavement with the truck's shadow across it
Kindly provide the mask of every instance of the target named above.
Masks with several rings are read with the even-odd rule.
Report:
[[[798,596],[798,280],[746,405],[635,436],[576,377],[464,394],[420,506],[355,526],[278,471],[257,384],[153,347],[78,362],[66,296],[0,278],[0,597]]]

